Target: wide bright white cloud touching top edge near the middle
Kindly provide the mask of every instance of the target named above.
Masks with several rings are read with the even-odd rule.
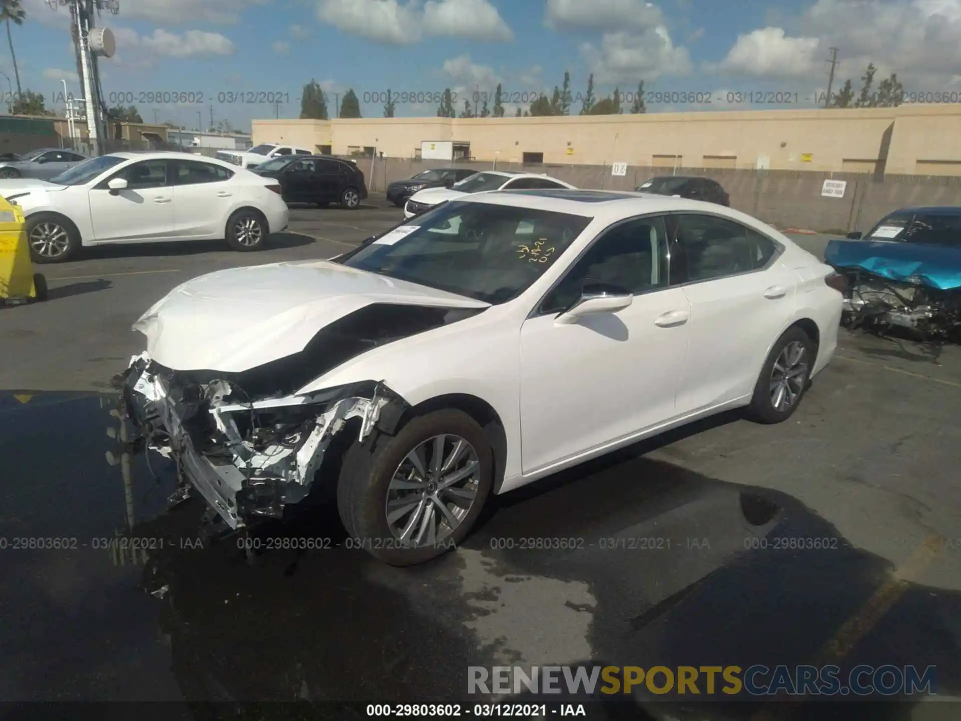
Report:
[[[509,40],[510,28],[488,0],[319,0],[317,18],[338,30],[393,45],[423,37]]]

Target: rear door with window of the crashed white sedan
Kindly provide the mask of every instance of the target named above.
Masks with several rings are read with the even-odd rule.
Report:
[[[794,313],[795,274],[772,238],[707,213],[678,213],[672,278],[691,304],[690,352],[678,414],[752,392],[768,348]]]

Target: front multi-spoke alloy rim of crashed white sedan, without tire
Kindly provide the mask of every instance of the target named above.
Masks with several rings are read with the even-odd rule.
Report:
[[[387,486],[387,526],[412,547],[453,534],[474,506],[480,460],[459,435],[434,435],[410,451]]]

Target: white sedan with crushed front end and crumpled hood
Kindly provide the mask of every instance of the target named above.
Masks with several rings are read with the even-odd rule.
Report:
[[[218,522],[323,488],[407,565],[459,543],[491,493],[722,410],[790,417],[834,353],[842,287],[718,205],[484,193],[332,261],[174,288],[117,380]]]

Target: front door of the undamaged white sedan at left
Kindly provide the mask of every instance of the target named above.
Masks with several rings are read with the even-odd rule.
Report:
[[[107,184],[123,178],[127,187]],[[173,187],[167,161],[134,162],[89,190],[94,241],[169,240],[173,233]]]

